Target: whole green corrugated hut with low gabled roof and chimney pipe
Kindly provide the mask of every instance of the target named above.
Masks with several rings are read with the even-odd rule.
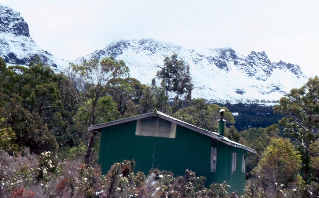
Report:
[[[106,174],[116,162],[134,159],[136,171],[145,174],[153,168],[185,170],[206,177],[206,186],[226,181],[229,192],[243,192],[246,181],[247,152],[253,149],[223,135],[221,110],[219,133],[210,132],[159,111],[89,127],[101,132],[99,164]]]

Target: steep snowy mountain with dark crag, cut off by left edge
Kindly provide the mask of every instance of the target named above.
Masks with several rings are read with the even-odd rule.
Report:
[[[42,50],[32,40],[28,24],[19,12],[0,5],[0,57],[9,64],[29,65],[36,56],[52,67],[68,64]]]

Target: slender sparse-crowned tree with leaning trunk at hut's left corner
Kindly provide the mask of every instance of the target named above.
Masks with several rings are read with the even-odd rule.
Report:
[[[73,86],[71,94],[76,98],[78,105],[90,115],[89,123],[95,125],[98,100],[107,94],[108,81],[112,78],[128,77],[129,68],[122,60],[117,61],[114,57],[101,60],[93,58],[83,60],[80,64],[71,63],[66,73]],[[88,100],[90,103],[87,103]],[[86,165],[89,164],[96,133],[92,131],[85,156]]]

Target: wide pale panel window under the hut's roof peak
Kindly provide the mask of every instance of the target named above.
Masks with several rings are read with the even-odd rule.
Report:
[[[135,135],[175,138],[176,124],[159,117],[139,119]]]

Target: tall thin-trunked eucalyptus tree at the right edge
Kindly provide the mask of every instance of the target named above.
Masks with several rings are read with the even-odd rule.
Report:
[[[274,110],[284,115],[279,123],[285,126],[284,132],[291,136],[304,151],[305,180],[309,173],[310,142],[318,137],[319,128],[319,78],[309,78],[308,82],[298,89],[292,89],[279,101]]]

